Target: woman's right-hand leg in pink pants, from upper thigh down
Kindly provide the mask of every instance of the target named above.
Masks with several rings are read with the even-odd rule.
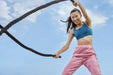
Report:
[[[96,55],[90,56],[85,62],[84,65],[91,72],[91,75],[101,75],[99,64],[97,61]]]

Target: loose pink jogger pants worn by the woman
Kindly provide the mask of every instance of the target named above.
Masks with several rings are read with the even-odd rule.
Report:
[[[92,45],[78,45],[62,75],[72,75],[81,65],[85,65],[91,72],[91,75],[101,75],[95,50]]]

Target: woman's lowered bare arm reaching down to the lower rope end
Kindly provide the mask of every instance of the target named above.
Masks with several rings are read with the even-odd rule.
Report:
[[[74,35],[73,35],[73,29],[71,29],[71,31],[70,31],[70,33],[69,33],[69,38],[68,38],[68,41],[67,41],[66,45],[65,45],[64,47],[62,47],[62,49],[59,50],[59,51],[55,54],[56,56],[55,56],[54,58],[58,58],[61,53],[63,53],[64,51],[66,51],[66,50],[69,48],[73,37],[74,37]]]

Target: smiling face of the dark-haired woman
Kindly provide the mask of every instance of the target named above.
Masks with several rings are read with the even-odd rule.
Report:
[[[82,15],[78,11],[75,11],[75,12],[71,13],[71,20],[76,25],[81,23],[81,17],[82,17]]]

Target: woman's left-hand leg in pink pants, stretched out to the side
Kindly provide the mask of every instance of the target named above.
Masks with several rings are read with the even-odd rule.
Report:
[[[70,62],[65,67],[62,75],[72,75],[82,64],[83,64],[82,58],[72,57]]]

